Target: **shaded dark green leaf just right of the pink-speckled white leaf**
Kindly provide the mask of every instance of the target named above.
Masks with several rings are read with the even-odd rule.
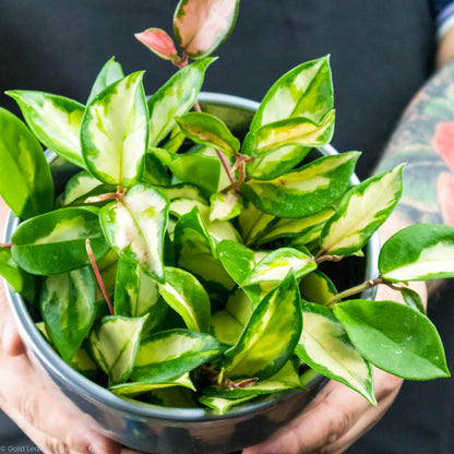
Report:
[[[177,265],[195,275],[208,292],[224,295],[235,287],[218,260],[215,241],[196,207],[178,220],[174,247]]]

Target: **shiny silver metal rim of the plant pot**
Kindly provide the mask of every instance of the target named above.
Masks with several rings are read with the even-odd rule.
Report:
[[[224,106],[235,106],[244,110],[255,111],[259,107],[259,103],[247,99],[239,96],[201,92],[199,100],[215,103]],[[324,145],[323,148],[325,154],[337,154],[335,148],[331,145]],[[46,151],[46,158],[48,162],[52,160],[57,155],[51,151]],[[357,184],[359,179],[356,175],[353,177],[351,182]],[[3,242],[10,242],[11,237],[17,227],[19,219],[10,211],[7,218],[3,232]],[[378,255],[380,250],[380,241],[378,234],[374,234],[367,246],[368,255]],[[365,271],[366,276],[378,275],[378,267],[373,260],[368,260]],[[323,381],[327,380],[321,374],[314,373],[314,378],[309,381],[307,389],[298,390],[291,389],[274,393],[267,396],[263,396],[256,403],[246,403],[241,406],[234,407],[224,415],[216,415],[212,409],[208,408],[171,408],[171,407],[159,407],[150,404],[142,404],[140,402],[126,401],[119,396],[116,396],[107,389],[96,384],[89,379],[85,378],[81,373],[72,369],[63,359],[51,348],[47,340],[43,337],[39,331],[36,328],[32,316],[24,304],[24,301],[20,294],[15,292],[3,279],[3,287],[8,303],[13,313],[14,321],[19,327],[21,337],[23,338],[27,348],[29,348],[33,355],[39,360],[44,368],[50,372],[52,379],[57,378],[60,382],[67,383],[77,395],[82,395],[84,398],[95,401],[106,407],[116,409],[123,414],[129,414],[135,418],[151,418],[151,419],[167,419],[172,421],[181,422],[212,422],[225,419],[231,419],[241,417],[244,415],[252,415],[256,410],[268,408],[273,405],[277,405],[283,401],[291,398],[294,395],[301,392],[308,392],[311,389],[316,387]],[[373,295],[373,294],[372,294]],[[371,294],[368,295],[371,298]]]

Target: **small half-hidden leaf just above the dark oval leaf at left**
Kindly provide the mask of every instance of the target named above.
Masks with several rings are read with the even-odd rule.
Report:
[[[83,170],[68,180],[61,198],[61,205],[84,204],[86,199],[91,196],[116,191],[115,186],[104,184],[97,178]]]

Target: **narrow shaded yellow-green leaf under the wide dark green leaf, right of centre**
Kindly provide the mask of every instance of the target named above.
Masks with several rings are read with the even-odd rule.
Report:
[[[307,234],[315,226],[323,226],[335,213],[334,208],[326,208],[310,216],[299,218],[280,218],[265,229],[262,237],[259,237],[256,243],[263,244],[277,238],[294,238]]]

